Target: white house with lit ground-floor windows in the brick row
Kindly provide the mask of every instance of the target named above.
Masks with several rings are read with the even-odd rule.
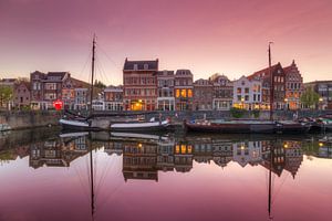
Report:
[[[261,105],[261,82],[241,76],[234,82],[234,107],[259,109]]]

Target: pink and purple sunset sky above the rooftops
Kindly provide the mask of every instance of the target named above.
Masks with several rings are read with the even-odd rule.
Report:
[[[95,32],[107,84],[122,83],[125,57],[238,78],[267,66],[269,41],[273,63],[294,59],[304,82],[331,80],[331,0],[0,0],[0,77],[70,71],[87,81]]]

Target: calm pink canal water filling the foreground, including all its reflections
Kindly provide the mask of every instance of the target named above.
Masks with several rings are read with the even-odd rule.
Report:
[[[328,138],[0,134],[0,220],[331,220]]]

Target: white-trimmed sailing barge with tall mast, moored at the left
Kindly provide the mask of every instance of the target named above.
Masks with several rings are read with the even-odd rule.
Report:
[[[93,83],[94,83],[94,63],[95,63],[95,35],[93,36],[92,44],[92,66],[91,66],[91,94],[90,94],[90,104],[89,117],[77,116],[75,114],[68,113],[69,115],[64,115],[60,120],[60,125],[64,129],[69,130],[121,130],[121,131],[132,131],[132,130],[164,130],[169,126],[169,119],[155,120],[153,117],[149,120],[137,122],[127,119],[121,119],[115,117],[115,115],[110,114],[108,117],[94,117],[93,108],[92,108],[92,99],[93,99]],[[111,116],[111,118],[110,118]],[[113,119],[112,119],[113,116]],[[120,116],[120,115],[117,115]]]

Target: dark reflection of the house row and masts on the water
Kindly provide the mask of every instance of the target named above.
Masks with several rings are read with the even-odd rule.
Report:
[[[281,178],[282,175],[288,173],[294,180],[304,158],[309,160],[331,159],[331,137],[332,135],[238,137],[231,135],[25,131],[24,135],[0,136],[0,160],[1,165],[7,165],[28,157],[29,167],[39,170],[41,168],[71,168],[86,156],[91,159],[91,170],[87,170],[86,175],[94,178],[92,159],[96,157],[92,152],[102,151],[110,159],[112,157],[122,159],[122,179],[131,183],[138,180],[160,182],[159,176],[165,173],[189,175],[200,165],[214,165],[222,170],[234,165],[247,170],[248,168],[263,168],[269,175],[269,179],[266,180],[269,191],[264,194],[268,199],[266,204],[269,214],[267,217],[272,218],[273,179],[271,175]],[[208,175],[200,175],[201,178],[206,176]],[[89,181],[90,187],[94,187],[92,182],[93,179]],[[94,191],[91,192],[92,212],[95,210]]]

